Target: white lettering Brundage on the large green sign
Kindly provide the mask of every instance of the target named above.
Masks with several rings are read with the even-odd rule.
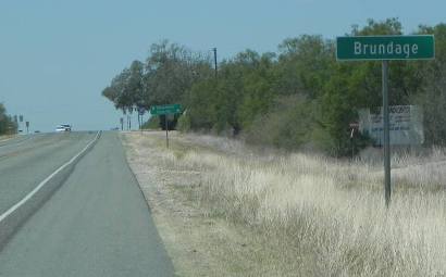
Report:
[[[413,43],[387,43],[368,45],[360,41],[355,41],[355,55],[388,55],[404,54],[406,58],[418,54],[418,45]]]

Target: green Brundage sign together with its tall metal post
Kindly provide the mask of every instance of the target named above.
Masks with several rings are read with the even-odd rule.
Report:
[[[435,56],[433,35],[420,36],[358,36],[336,39],[338,61],[382,61],[383,86],[383,146],[384,146],[384,199],[391,204],[391,130],[388,116],[388,61],[432,60]]]

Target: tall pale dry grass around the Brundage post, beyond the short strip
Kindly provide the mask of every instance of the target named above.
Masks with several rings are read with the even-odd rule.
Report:
[[[161,136],[145,139],[162,148]],[[247,261],[257,264],[234,276],[445,276],[441,150],[394,158],[388,210],[374,163],[259,152],[190,135],[174,136],[173,148],[159,154],[164,168],[196,173],[188,201],[208,218],[243,226],[256,238],[259,251]]]

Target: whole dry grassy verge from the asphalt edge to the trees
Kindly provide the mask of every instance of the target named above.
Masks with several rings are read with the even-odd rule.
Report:
[[[182,276],[445,276],[446,158],[380,163],[127,134],[128,160]]]

